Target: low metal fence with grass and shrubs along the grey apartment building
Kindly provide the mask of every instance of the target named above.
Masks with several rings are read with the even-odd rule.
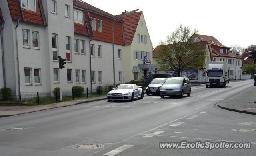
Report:
[[[97,88],[62,90],[62,101],[85,99],[89,97],[106,96],[113,86],[98,86]],[[92,91],[92,92],[91,92]],[[4,100],[0,93],[0,103],[17,103],[24,105],[43,105],[60,102],[60,92],[19,92],[12,90]]]

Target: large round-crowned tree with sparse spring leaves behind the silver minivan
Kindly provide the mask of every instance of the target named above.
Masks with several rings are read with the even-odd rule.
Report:
[[[192,37],[197,32],[197,30],[191,31],[189,27],[180,25],[171,35],[167,36],[166,42],[160,41],[160,48],[156,52],[158,68],[163,71],[174,70],[178,72],[178,76],[182,70],[202,69],[206,51]]]

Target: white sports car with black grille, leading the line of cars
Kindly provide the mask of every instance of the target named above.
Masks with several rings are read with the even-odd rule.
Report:
[[[107,94],[108,101],[143,99],[144,92],[141,86],[136,84],[120,84]]]

